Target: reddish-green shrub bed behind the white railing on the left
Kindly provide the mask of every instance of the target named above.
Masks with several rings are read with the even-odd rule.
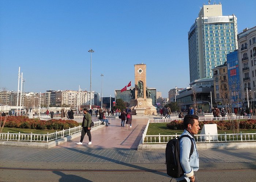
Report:
[[[62,119],[51,119],[48,121],[29,119],[26,116],[8,116],[5,127],[15,127],[15,128],[31,128],[38,130],[54,129],[62,130],[73,128],[79,126],[79,124],[74,120],[62,120]]]

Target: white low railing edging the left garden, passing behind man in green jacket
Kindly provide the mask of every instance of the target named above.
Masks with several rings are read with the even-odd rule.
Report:
[[[95,121],[94,126],[99,126],[102,122]],[[62,131],[56,131],[54,133],[47,133],[47,134],[33,134],[31,133],[0,133],[0,140],[7,140],[7,141],[30,141],[30,142],[49,142],[56,140],[58,138],[63,138],[65,136],[75,134],[77,132],[82,131],[82,126],[76,126],[74,128],[68,128]]]

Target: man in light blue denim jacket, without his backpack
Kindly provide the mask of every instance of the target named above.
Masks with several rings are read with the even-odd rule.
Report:
[[[195,178],[195,171],[199,169],[199,155],[197,152],[194,135],[196,135],[200,129],[198,123],[198,116],[185,115],[183,125],[185,130],[181,134],[181,136],[188,135],[189,137],[191,137],[194,144],[194,150],[191,157],[189,158],[189,153],[192,145],[191,139],[187,137],[183,137],[180,139],[180,164],[182,169],[184,170],[184,175],[182,175],[180,178],[176,178],[176,181],[197,182]]]

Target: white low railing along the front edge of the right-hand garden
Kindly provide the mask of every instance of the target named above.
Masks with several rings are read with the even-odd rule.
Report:
[[[168,143],[180,135],[143,135],[142,143]],[[210,138],[210,140],[209,140]],[[256,141],[256,133],[195,135],[196,143]]]

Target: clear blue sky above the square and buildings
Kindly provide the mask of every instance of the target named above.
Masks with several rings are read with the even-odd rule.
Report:
[[[167,97],[189,84],[188,30],[207,0],[1,0],[0,88],[25,92],[92,90],[114,96],[147,64],[147,87]],[[211,4],[214,1],[211,1]],[[215,1],[217,4],[219,1]],[[222,0],[238,32],[256,25],[255,0]]]

